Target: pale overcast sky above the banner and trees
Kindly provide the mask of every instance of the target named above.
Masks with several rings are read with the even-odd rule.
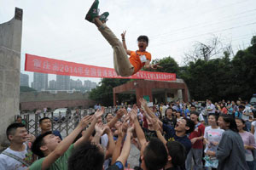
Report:
[[[23,9],[20,71],[25,54],[113,68],[113,49],[92,23],[84,20],[92,0],[0,0],[0,24]],[[184,65],[195,42],[217,36],[237,50],[256,35],[255,0],[100,0],[107,25],[119,37],[126,31],[127,48],[137,50],[137,37],[147,35],[152,59],[171,56]],[[55,75],[49,75],[49,80]],[[100,78],[72,77],[100,82]]]

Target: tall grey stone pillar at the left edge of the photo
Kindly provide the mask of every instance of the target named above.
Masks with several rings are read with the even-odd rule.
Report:
[[[19,114],[20,48],[22,9],[15,8],[15,17],[0,24],[0,144],[6,144],[6,128]],[[0,146],[1,146],[0,145]]]

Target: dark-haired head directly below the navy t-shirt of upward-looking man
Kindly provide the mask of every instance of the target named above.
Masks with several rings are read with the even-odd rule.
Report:
[[[183,144],[177,141],[168,141],[166,143],[168,150],[168,161],[172,162],[173,167],[183,166],[186,161],[186,149]]]

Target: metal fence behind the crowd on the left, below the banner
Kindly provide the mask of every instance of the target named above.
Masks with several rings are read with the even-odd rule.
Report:
[[[105,113],[103,114],[103,118],[106,116],[107,113],[113,113],[116,111],[117,107],[108,107],[105,108]],[[96,110],[95,109],[84,109],[79,112],[78,115],[73,115],[73,112],[66,112],[66,114],[55,115],[54,112],[45,112],[45,113],[38,113],[38,112],[31,112],[25,113],[21,115],[23,122],[26,124],[26,129],[28,133],[32,133],[35,136],[38,136],[41,133],[39,127],[39,120],[43,117],[49,117],[52,122],[52,131],[58,130],[61,133],[62,137],[66,137],[69,133],[73,131],[73,129],[79,124],[81,118],[83,116],[87,116],[93,114]],[[15,116],[15,120],[16,120]]]

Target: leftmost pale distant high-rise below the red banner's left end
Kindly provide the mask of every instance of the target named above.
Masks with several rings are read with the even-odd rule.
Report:
[[[44,91],[48,88],[48,74],[34,72],[32,88],[37,91]]]

